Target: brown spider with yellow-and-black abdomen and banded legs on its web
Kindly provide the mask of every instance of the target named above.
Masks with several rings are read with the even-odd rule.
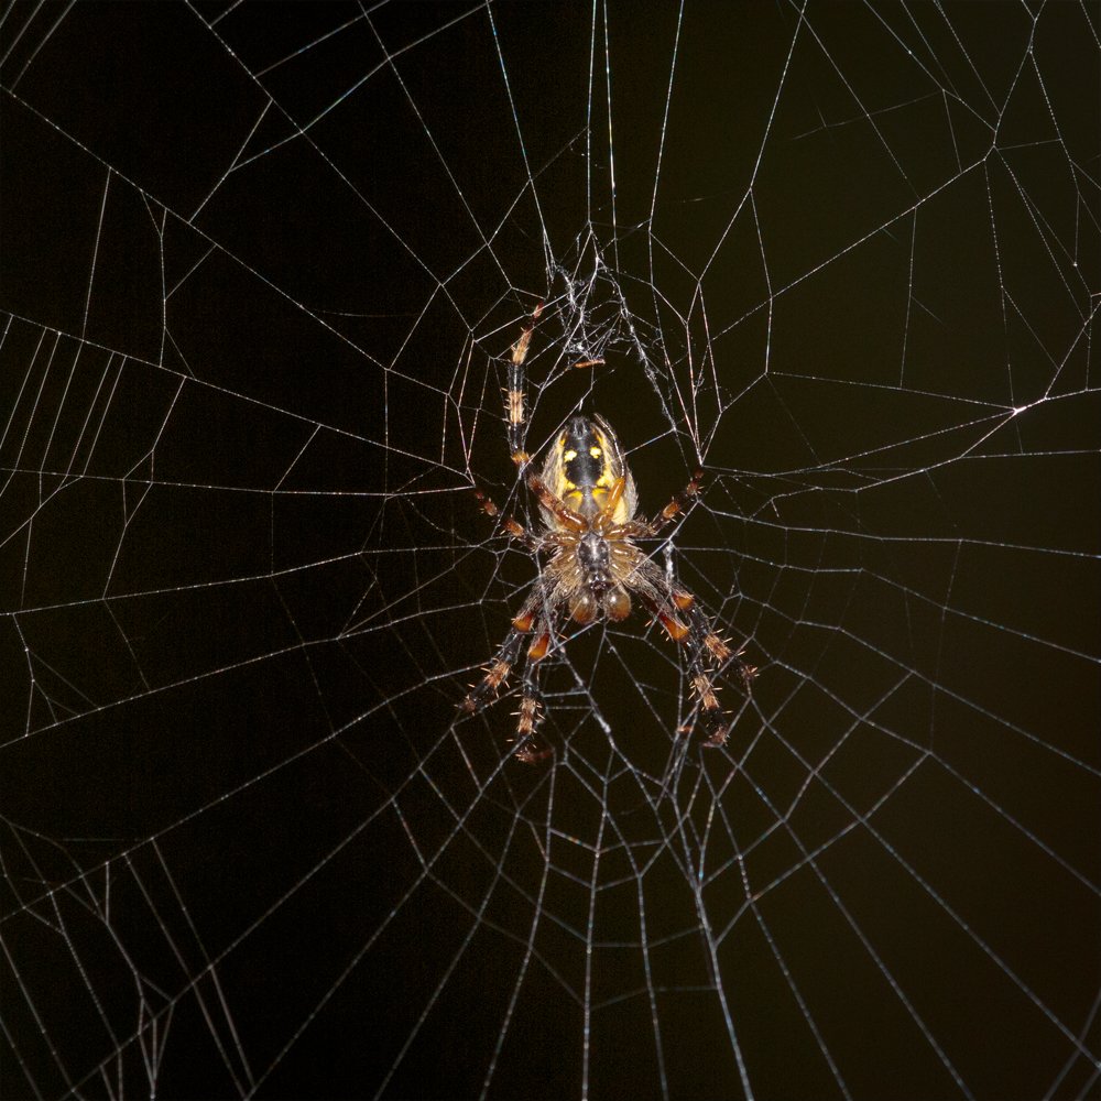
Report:
[[[505,390],[509,447],[520,473],[532,457],[523,449],[524,360],[541,303],[525,320],[512,346],[509,386]],[[586,363],[588,366],[588,363]],[[657,536],[699,492],[701,470],[652,521],[637,513],[639,495],[626,457],[611,425],[599,414],[571,416],[552,443],[539,473],[528,473],[527,487],[539,505],[545,530],[533,532],[511,516],[502,526],[542,562],[538,578],[512,620],[486,675],[459,705],[473,715],[495,698],[530,639],[521,668],[520,711],[516,722],[516,756],[534,763],[552,754],[536,748],[543,719],[538,663],[547,655],[564,611],[575,623],[587,625],[603,615],[618,623],[631,614],[634,600],[645,606],[671,639],[685,646],[691,688],[699,698],[700,717],[708,737],[706,745],[722,745],[729,726],[724,722],[712,683],[711,668],[730,663],[746,688],[755,669],[720,639],[696,598],[667,580],[662,569],[637,545],[637,539]],[[497,517],[497,505],[476,490],[482,510]]]

